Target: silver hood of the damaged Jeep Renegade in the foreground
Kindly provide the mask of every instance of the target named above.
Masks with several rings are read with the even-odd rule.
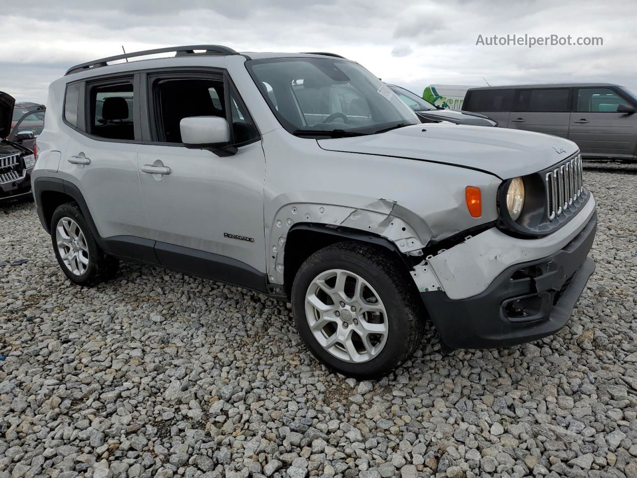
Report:
[[[420,124],[387,133],[318,140],[330,151],[450,164],[506,179],[543,170],[577,151],[573,141],[506,128]]]

